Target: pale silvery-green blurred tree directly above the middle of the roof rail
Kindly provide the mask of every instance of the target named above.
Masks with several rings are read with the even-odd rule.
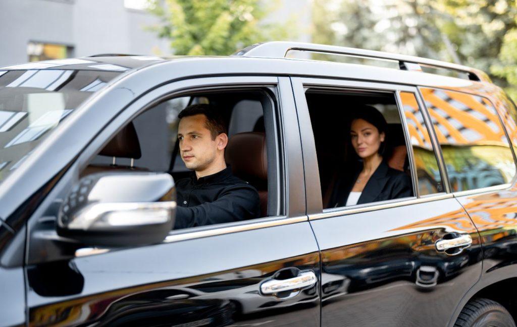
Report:
[[[315,42],[454,60],[432,0],[315,0]],[[322,32],[323,31],[323,32]]]

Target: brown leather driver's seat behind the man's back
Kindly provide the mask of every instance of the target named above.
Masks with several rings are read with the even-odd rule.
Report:
[[[232,172],[253,185],[260,197],[261,217],[267,216],[266,135],[260,132],[238,133],[226,146],[225,159]]]

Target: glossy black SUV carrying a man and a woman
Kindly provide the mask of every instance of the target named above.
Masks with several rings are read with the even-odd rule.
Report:
[[[171,230],[196,103],[261,218]],[[336,207],[364,105],[412,194]],[[516,123],[483,72],[336,46],[0,68],[0,324],[515,326]]]

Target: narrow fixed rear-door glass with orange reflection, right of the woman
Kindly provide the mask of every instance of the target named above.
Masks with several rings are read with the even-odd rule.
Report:
[[[444,192],[431,138],[414,93],[400,92],[418,176],[420,195]]]

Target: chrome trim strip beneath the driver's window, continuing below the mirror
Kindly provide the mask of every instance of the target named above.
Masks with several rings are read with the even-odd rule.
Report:
[[[272,218],[274,218],[274,219],[272,220]],[[268,221],[256,222],[255,220],[253,220],[252,223],[247,223],[247,224],[242,224],[242,225],[237,225],[237,226],[217,227],[217,228],[212,228],[211,230],[205,230],[205,231],[199,231],[199,230],[197,230],[198,227],[193,227],[193,228],[188,228],[188,229],[182,230],[181,231],[182,233],[174,233],[172,235],[169,235],[169,236],[165,237],[163,242],[158,243],[156,245],[164,244],[164,243],[185,241],[185,240],[196,239],[196,238],[209,237],[209,236],[246,232],[246,231],[258,230],[259,228],[290,225],[290,224],[306,222],[306,221],[308,221],[307,216],[299,216],[299,217],[292,217],[292,218],[286,218],[285,216],[278,216],[278,217],[269,217]],[[82,248],[82,249],[78,249],[77,251],[75,251],[75,257],[85,257],[85,256],[102,254],[102,253],[107,253],[107,252],[116,251],[116,250],[118,250],[118,249]]]

